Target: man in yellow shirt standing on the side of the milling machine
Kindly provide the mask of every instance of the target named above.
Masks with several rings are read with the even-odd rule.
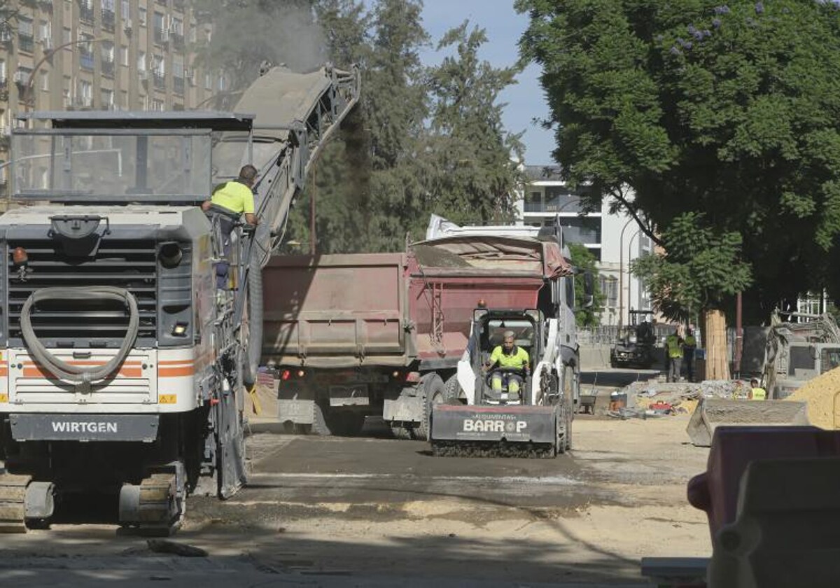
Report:
[[[245,222],[251,227],[258,223],[254,213],[254,182],[257,168],[254,165],[243,165],[239,170],[239,177],[234,181],[226,181],[213,188],[213,197],[202,203],[202,210],[213,220],[218,219],[219,230],[222,234],[224,261],[216,264],[216,287],[225,290],[228,287],[228,270],[230,257],[230,235],[234,232],[236,223],[244,214]]]

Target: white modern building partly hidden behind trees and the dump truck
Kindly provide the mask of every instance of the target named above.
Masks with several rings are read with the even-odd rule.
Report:
[[[555,165],[526,165],[525,175],[527,183],[517,200],[518,223],[543,226],[559,220],[567,242],[583,244],[595,255],[604,294],[601,324],[628,324],[629,311],[650,309],[648,291],[629,266],[652,252],[654,244],[633,218],[611,214],[606,199],[601,210],[584,212],[583,192],[570,190]]]

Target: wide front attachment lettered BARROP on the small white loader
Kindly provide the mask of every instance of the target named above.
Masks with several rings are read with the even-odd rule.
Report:
[[[432,411],[435,455],[554,457],[559,407],[438,404]]]

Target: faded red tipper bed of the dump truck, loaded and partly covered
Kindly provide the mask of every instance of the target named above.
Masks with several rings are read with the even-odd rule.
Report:
[[[265,362],[437,369],[463,354],[480,301],[538,307],[570,266],[554,243],[469,236],[407,254],[278,256],[264,271]]]

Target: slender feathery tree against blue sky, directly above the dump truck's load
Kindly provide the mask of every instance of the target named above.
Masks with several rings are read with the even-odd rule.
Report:
[[[501,122],[499,93],[516,83],[517,66],[495,68],[479,59],[484,29],[465,21],[450,29],[438,50],[454,48],[428,72],[432,93],[432,140],[436,171],[430,192],[434,208],[456,223],[509,222],[522,160],[520,135]]]

